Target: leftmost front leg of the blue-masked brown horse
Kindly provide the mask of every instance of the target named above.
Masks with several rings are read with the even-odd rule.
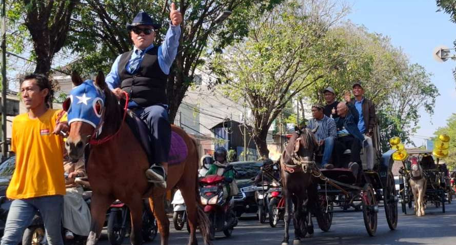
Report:
[[[103,229],[103,224],[106,219],[106,211],[111,205],[113,199],[99,193],[93,193],[92,202],[90,204],[90,215],[92,221],[90,224],[90,232],[87,237],[87,245],[94,245],[100,237],[100,233]]]

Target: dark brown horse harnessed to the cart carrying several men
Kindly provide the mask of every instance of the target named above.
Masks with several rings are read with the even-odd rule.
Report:
[[[313,153],[317,148],[315,137],[308,129],[296,129],[288,140],[281,156],[281,176],[285,198],[285,235],[282,245],[288,245],[291,214],[294,213],[294,240],[299,244],[302,237],[313,234],[310,211],[319,215],[317,208],[316,181],[311,172],[316,168]],[[294,211],[291,208],[294,205]]]

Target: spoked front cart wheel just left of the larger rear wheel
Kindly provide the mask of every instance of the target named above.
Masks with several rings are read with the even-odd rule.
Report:
[[[363,216],[364,225],[369,236],[374,236],[377,231],[377,201],[375,200],[375,193],[372,185],[366,183],[362,193],[363,199]]]

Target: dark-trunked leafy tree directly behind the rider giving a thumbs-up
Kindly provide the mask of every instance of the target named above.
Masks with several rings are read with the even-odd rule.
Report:
[[[170,120],[188,87],[193,83],[195,69],[205,63],[204,56],[221,52],[224,47],[242,40],[248,32],[250,19],[271,9],[283,0],[183,0],[176,6],[184,16],[181,24],[180,47],[168,77],[167,94]],[[157,38],[159,44],[169,23],[169,6],[166,0],[145,3],[138,0],[85,0],[74,19],[70,47],[82,58],[75,67],[93,72],[109,70],[115,57],[131,49],[132,43],[125,29],[140,9],[153,13],[163,28]],[[232,11],[222,24],[213,22],[222,11]]]

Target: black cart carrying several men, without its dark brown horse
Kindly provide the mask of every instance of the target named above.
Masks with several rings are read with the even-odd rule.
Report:
[[[381,154],[380,133],[378,126],[375,127],[372,137],[374,146],[374,168],[367,170],[366,164],[362,164],[362,171],[357,176],[350,169],[336,168],[331,170],[322,169],[323,176],[319,182],[319,201],[322,216],[317,217],[319,227],[328,231],[331,227],[332,214],[339,212],[363,212],[364,224],[370,236],[375,235],[377,229],[377,213],[380,207],[384,207],[386,220],[391,230],[398,224],[398,200],[394,178],[391,172],[393,165],[390,150]],[[339,165],[347,166],[351,154],[349,150],[344,152],[346,157],[333,159]],[[362,161],[366,161],[366,150],[362,151]],[[319,160],[318,157],[315,159]]]

